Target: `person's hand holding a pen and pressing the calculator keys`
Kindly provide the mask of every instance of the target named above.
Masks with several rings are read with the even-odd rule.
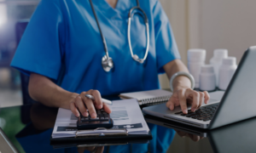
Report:
[[[85,94],[90,94],[94,97],[95,101],[85,97]],[[79,111],[83,116],[89,116],[91,118],[96,118],[96,109],[103,109],[108,114],[111,113],[110,108],[107,104],[102,103],[102,96],[98,90],[89,90],[87,92],[82,92],[70,103],[70,110],[75,116],[79,116]],[[88,111],[89,113],[88,113]]]

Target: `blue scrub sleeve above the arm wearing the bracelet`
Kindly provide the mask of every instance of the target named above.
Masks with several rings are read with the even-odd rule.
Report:
[[[159,1],[156,1],[154,5],[153,15],[157,67],[159,73],[164,73],[163,65],[173,59],[180,59],[180,55],[171,24]]]

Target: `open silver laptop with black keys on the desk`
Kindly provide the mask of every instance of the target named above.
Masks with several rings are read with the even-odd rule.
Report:
[[[170,111],[166,104],[143,108],[143,113],[158,116],[167,120],[180,122],[193,127],[213,129],[240,122],[256,116],[256,46],[250,47],[243,54],[234,76],[220,101],[210,99],[207,105],[202,104],[195,113],[184,115],[180,107]],[[197,117],[199,115],[200,117]]]

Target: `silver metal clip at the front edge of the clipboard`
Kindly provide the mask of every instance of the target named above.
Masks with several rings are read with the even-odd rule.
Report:
[[[76,132],[75,138],[78,137],[104,137],[104,136],[127,136],[128,131],[126,128],[120,129],[107,129],[104,127],[98,127],[90,130],[79,130]]]

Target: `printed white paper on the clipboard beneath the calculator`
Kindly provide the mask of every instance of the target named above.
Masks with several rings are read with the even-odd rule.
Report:
[[[137,99],[114,100],[109,105],[112,110],[110,117],[113,119],[113,129],[116,132],[126,128],[128,134],[148,134],[148,124],[137,103]],[[55,121],[52,138],[75,137],[77,132],[78,117],[72,111],[60,108]]]

